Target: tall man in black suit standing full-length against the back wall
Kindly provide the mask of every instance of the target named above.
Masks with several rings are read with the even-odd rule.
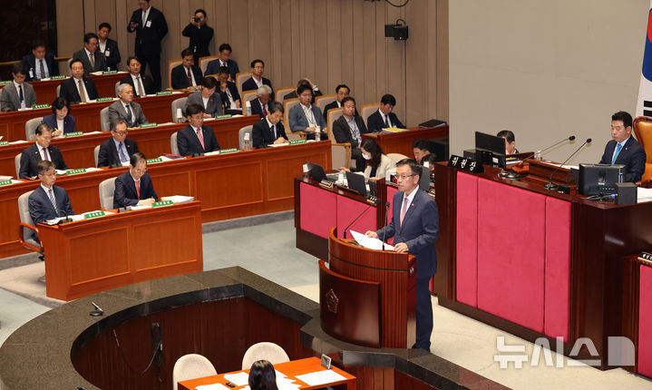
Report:
[[[168,23],[158,9],[150,5],[150,0],[138,0],[139,9],[131,14],[127,32],[136,32],[134,53],[141,61],[142,73],[150,64],[154,90],[161,91],[161,40],[168,34]]]

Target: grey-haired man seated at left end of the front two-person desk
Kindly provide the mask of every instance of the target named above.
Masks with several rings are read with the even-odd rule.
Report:
[[[55,186],[56,171],[52,161],[39,161],[36,166],[41,185],[36,187],[27,200],[29,215],[34,225],[57,217],[73,215],[73,206],[63,188]]]

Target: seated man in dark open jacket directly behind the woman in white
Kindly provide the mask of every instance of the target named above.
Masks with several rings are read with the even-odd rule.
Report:
[[[342,100],[342,116],[333,122],[333,136],[339,143],[351,144],[351,158],[355,160],[355,170],[365,170],[365,158],[360,150],[361,134],[365,134],[365,121],[355,115],[355,99],[345,97]]]

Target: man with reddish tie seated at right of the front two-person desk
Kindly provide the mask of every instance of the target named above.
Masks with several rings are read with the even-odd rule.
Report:
[[[147,158],[140,151],[129,159],[129,171],[115,179],[113,209],[127,206],[151,206],[158,200],[151,177],[147,173]]]

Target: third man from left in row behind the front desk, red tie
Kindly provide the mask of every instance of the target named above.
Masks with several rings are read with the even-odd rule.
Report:
[[[177,146],[181,156],[219,151],[219,143],[213,129],[204,126],[204,108],[190,104],[186,109],[188,126],[177,132]]]

